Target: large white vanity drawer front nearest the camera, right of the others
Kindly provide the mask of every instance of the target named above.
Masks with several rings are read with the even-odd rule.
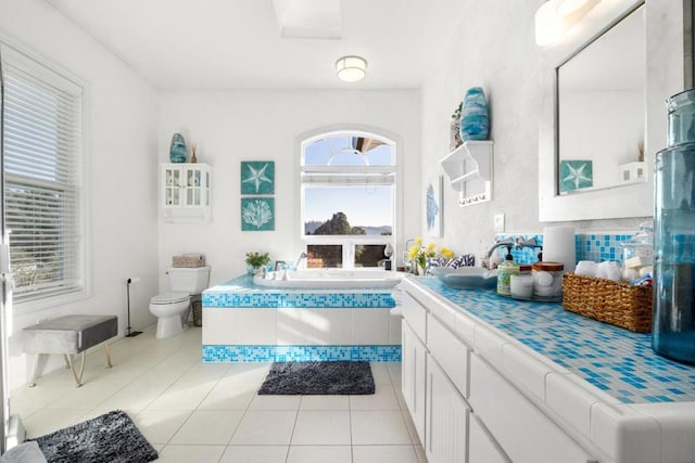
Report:
[[[469,402],[514,462],[595,460],[476,355],[470,356]]]

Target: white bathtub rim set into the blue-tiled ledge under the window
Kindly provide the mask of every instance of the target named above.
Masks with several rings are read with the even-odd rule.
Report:
[[[388,270],[279,270],[265,278],[255,275],[253,284],[266,287],[350,288],[393,287],[402,273]]]

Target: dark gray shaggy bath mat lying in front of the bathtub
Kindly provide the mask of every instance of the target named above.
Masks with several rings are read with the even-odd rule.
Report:
[[[374,394],[369,362],[275,362],[258,395]]]

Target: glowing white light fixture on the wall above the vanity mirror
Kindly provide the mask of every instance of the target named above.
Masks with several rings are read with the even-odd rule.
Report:
[[[539,47],[553,44],[598,1],[547,0],[535,12],[535,43]]]

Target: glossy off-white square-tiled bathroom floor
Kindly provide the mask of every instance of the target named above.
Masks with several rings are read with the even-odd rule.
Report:
[[[257,396],[269,364],[202,363],[201,330],[156,339],[152,329],[12,393],[28,437],[125,410],[160,462],[425,463],[401,395],[401,364],[372,363],[374,396]]]

